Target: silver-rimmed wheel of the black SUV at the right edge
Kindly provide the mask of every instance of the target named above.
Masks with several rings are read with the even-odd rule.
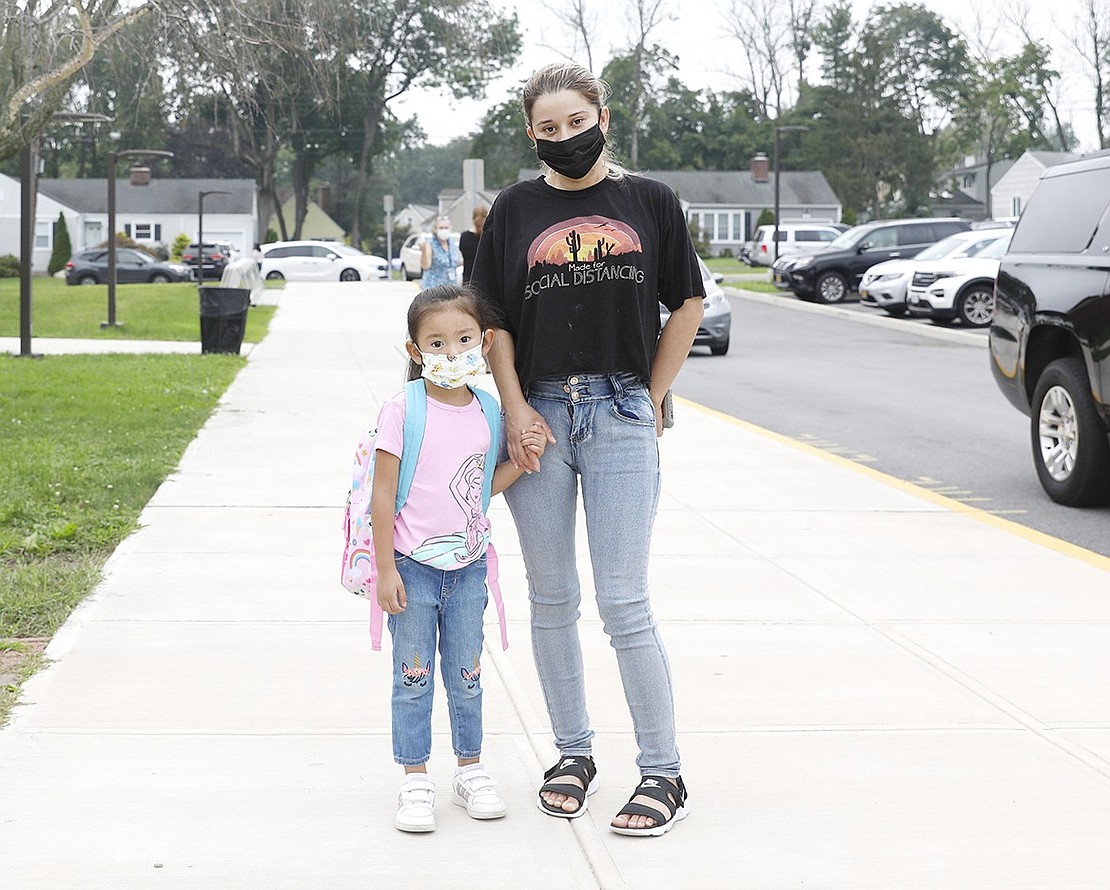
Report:
[[[1082,360],[1049,364],[1037,381],[1031,407],[1033,463],[1048,496],[1068,507],[1110,500],[1110,441]]]

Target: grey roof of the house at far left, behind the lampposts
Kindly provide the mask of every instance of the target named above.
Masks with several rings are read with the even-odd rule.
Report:
[[[253,213],[254,180],[186,179],[152,176],[149,185],[115,183],[117,213],[195,213],[199,193],[223,191],[204,198],[205,213]],[[39,192],[80,213],[108,212],[108,180],[39,180]]]

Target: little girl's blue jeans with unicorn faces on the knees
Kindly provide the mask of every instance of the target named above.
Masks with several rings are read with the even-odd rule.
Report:
[[[404,766],[432,756],[436,637],[456,757],[482,754],[483,556],[445,572],[396,554],[407,605],[389,619],[393,637],[393,759]]]

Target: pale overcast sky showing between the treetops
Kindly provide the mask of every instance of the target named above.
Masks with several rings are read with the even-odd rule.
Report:
[[[515,95],[519,84],[535,69],[551,61],[569,55],[573,50],[571,36],[552,16],[549,10],[563,0],[491,0],[503,10],[515,10],[523,32],[523,51],[518,63],[495,81],[485,99],[444,102],[443,92],[415,92],[394,105],[398,117],[416,115],[430,142],[443,144],[456,136],[474,132],[484,112],[494,103],[504,101],[509,92]],[[819,0],[820,2],[820,0]],[[890,3],[897,0],[889,0]],[[1074,30],[1074,18],[1081,0],[1010,0],[1005,9],[1028,9],[1033,33],[1043,34],[1054,49],[1053,63],[1064,74],[1061,91],[1061,115],[1070,119],[1081,142],[1081,150],[1097,146],[1093,123],[1093,90],[1081,72],[1069,60],[1076,50],[1067,36]],[[872,6],[866,0],[855,0],[857,19]],[[602,24],[594,41],[594,67],[601,69],[626,41],[620,2],[597,4]],[[828,6],[827,0],[823,6]],[[949,27],[963,33],[975,33],[999,51],[1015,47],[1012,30],[1008,29],[996,11],[997,0],[928,0],[930,10],[946,19]],[[739,70],[736,59],[738,44],[725,29],[724,17],[731,7],[730,0],[672,0],[672,7],[683,11],[677,18],[657,30],[658,42],[678,57],[677,77],[693,89],[736,89],[739,81],[731,74]],[[983,23],[977,27],[978,21]],[[1008,33],[1009,31],[1009,33]],[[566,53],[566,55],[561,55]],[[585,63],[585,58],[575,61]],[[522,131],[522,139],[524,139]]]

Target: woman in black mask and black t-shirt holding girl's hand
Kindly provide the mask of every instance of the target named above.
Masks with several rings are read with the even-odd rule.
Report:
[[[574,819],[596,788],[585,707],[574,557],[577,486],[605,633],[617,654],[642,781],[613,819],[666,833],[686,815],[670,670],[647,593],[659,493],[662,404],[702,320],[689,230],[665,185],[622,170],[605,146],[606,87],[579,65],[524,88],[543,175],[504,190],[483,230],[472,283],[501,312],[491,366],[509,457],[531,471],[506,492],[524,553],[532,645],[559,761],[537,805]],[[659,333],[659,301],[670,318]],[[539,422],[543,466],[518,445]]]

